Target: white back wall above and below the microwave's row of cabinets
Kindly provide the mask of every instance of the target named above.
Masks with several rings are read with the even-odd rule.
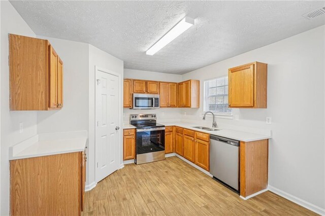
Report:
[[[134,70],[134,69],[124,69],[124,79],[139,79],[139,80],[153,80],[153,81],[165,81],[165,82],[181,82],[182,76],[175,74],[164,74],[152,71],[144,70]],[[123,120],[124,123],[129,122],[129,116],[131,114],[141,114],[141,113],[154,113],[157,114],[157,119],[159,122],[164,122],[168,120],[180,120],[182,108],[160,108],[157,110],[132,110],[128,108],[123,108]]]

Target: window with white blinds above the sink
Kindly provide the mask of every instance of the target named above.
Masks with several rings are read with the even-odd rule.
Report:
[[[204,82],[204,111],[232,115],[228,108],[228,76]]]

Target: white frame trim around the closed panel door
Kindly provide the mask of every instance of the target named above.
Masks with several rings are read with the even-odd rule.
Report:
[[[121,75],[112,71],[112,70],[109,70],[109,69],[104,69],[104,68],[101,68],[101,67],[98,67],[95,65],[95,118],[94,118],[94,122],[93,122],[93,125],[94,125],[94,128],[95,128],[95,137],[94,137],[94,147],[95,147],[95,182],[96,184],[99,182],[98,180],[98,171],[97,171],[97,151],[96,151],[96,141],[97,141],[97,125],[96,125],[96,122],[97,122],[97,93],[98,93],[98,85],[97,85],[97,77],[98,77],[98,74],[100,72],[103,72],[103,73],[106,73],[106,74],[110,74],[110,75],[113,75],[113,76],[116,76],[118,78],[118,94],[119,94],[119,97],[118,97],[118,125],[120,127],[120,129],[118,130],[118,134],[117,134],[117,137],[118,137],[118,145],[120,145],[121,143],[121,130],[123,130],[123,127],[121,125],[121,110],[122,110],[122,100],[121,100],[121,94],[122,94],[122,88],[121,88]],[[119,166],[120,166],[120,163],[121,163],[121,148],[118,148],[118,156],[117,156],[117,169],[119,169]],[[117,170],[116,169],[116,170]]]

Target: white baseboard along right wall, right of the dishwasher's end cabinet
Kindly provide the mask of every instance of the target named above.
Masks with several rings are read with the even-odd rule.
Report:
[[[278,188],[275,188],[273,186],[269,185],[268,188],[269,188],[269,191],[271,191],[271,192],[273,192],[273,193],[275,193],[275,194],[277,194],[277,195],[279,195],[281,197],[284,197],[285,199],[288,199],[291,202],[294,202],[294,203],[296,203],[298,205],[301,205],[301,206],[303,206],[303,207],[305,207],[305,208],[307,208],[307,209],[309,209],[309,210],[311,210],[311,211],[313,211],[313,212],[315,212],[317,214],[325,215],[325,209],[323,209],[321,207],[318,207],[318,206],[316,206],[316,205],[314,205],[314,204],[312,204],[310,202],[307,202],[307,201],[305,201],[303,199],[300,199],[300,198],[298,198],[298,197],[296,197],[294,195],[288,194],[288,193],[286,193],[286,192],[284,192],[284,191],[282,191],[282,190],[280,190]]]

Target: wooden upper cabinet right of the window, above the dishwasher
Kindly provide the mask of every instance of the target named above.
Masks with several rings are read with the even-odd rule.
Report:
[[[266,63],[253,62],[228,70],[229,107],[267,108]]]

